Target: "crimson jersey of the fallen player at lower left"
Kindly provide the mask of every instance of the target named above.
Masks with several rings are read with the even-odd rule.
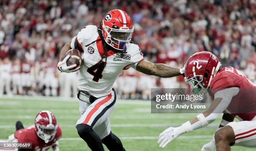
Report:
[[[34,126],[26,129],[20,129],[14,133],[18,143],[32,143],[32,148],[29,151],[47,151],[53,146],[56,141],[61,138],[61,128],[58,125],[56,135],[52,141],[45,143],[44,140],[36,135]]]

